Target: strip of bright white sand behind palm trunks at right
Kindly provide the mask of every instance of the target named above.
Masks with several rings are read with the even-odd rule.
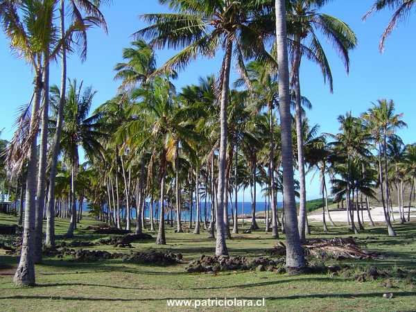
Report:
[[[393,207],[394,211],[394,217],[395,220],[399,220],[399,207]],[[407,219],[408,214],[408,208],[406,207],[404,209],[405,211],[405,217]],[[370,208],[371,218],[374,222],[383,222],[384,221],[384,213],[383,213],[383,207],[371,207]],[[331,214],[331,218],[333,222],[337,223],[343,223],[347,222],[347,211],[331,211],[329,209],[329,214]],[[368,218],[367,210],[363,211],[364,216],[364,222],[370,222],[370,218]],[[308,214],[308,220],[310,222],[322,222],[322,210],[320,211],[313,211],[313,213]],[[361,218],[361,211],[360,211],[360,218]],[[410,208],[410,218],[416,218],[416,208],[411,207]],[[325,214],[325,219],[328,222],[328,215]],[[356,211],[354,211],[354,220],[357,219]]]

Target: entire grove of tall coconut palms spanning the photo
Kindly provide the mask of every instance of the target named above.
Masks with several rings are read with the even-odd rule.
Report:
[[[388,233],[395,235],[390,190],[394,184],[397,193],[403,194],[409,183],[413,190],[414,177],[401,168],[413,164],[414,151],[413,146],[404,148],[395,135],[405,124],[395,114],[394,103],[381,100],[362,116],[340,116],[336,135],[318,135],[318,126],[309,125],[306,118],[311,103],[301,93],[302,60],[315,62],[330,91],[333,89],[326,49],[317,33],[331,42],[346,71],[349,51],[357,44],[354,31],[345,22],[321,12],[329,1],[159,0],[172,12],[141,16],[148,26],[135,33],[137,40],[123,50],[123,62],[114,68],[115,78],[121,81],[118,94],[90,114],[95,91],[68,80],[67,53],[78,52],[85,60],[89,28],[107,31],[100,7],[109,2],[0,1],[1,26],[10,46],[34,73],[31,102],[22,108],[15,135],[3,155],[10,181],[15,179],[26,190],[21,200],[25,205],[20,214],[24,211],[24,240],[16,284],[35,284],[34,264],[42,261],[44,216],[44,245],[53,248],[55,216],[71,218],[67,236],[73,236],[83,210],[79,205],[77,211],[76,203],[84,200],[108,223],[125,224],[129,230],[135,209],[137,233],[146,226],[146,206],[154,207],[147,202],[158,201],[159,244],[166,243],[166,215],[170,213],[173,222],[175,210],[177,232],[181,232],[181,211],[193,207],[193,202],[194,232],[199,234],[201,198],[209,200],[212,205],[210,211],[204,209],[204,226],[216,237],[216,254],[227,255],[226,239],[232,235],[229,223],[234,233],[239,230],[236,193],[241,187],[252,190],[250,227],[258,227],[254,218],[258,185],[264,187],[270,203],[266,228],[275,238],[279,227],[284,230],[286,265],[302,271],[306,263],[301,242],[309,231],[307,168],[320,172],[324,201],[328,197],[325,179],[331,177],[331,192],[337,200],[346,200],[355,232],[363,227],[359,196],[374,196],[374,188],[379,187]],[[376,1],[368,12],[397,8],[381,46],[399,20],[397,15],[403,17],[415,3],[405,2]],[[180,52],[157,66],[155,53],[165,48]],[[201,78],[181,90],[175,88],[173,80],[192,60],[212,58],[218,51],[223,51],[218,75]],[[58,59],[62,62],[60,86],[50,86],[49,66]],[[235,82],[230,81],[232,66],[241,76]],[[79,147],[87,159],[83,166]],[[401,156],[395,155],[395,148]],[[294,179],[294,168],[299,181]],[[228,216],[233,192],[234,210]],[[280,216],[279,192],[284,198]],[[401,221],[405,222],[404,199],[400,202]],[[330,218],[327,207],[325,211]],[[150,227],[155,227],[153,211],[150,216]]]

